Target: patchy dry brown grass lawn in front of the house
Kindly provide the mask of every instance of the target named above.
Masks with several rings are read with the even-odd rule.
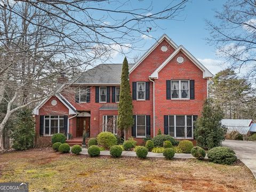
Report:
[[[0,155],[0,182],[30,191],[256,191],[252,173],[195,159],[90,158],[35,149]]]

